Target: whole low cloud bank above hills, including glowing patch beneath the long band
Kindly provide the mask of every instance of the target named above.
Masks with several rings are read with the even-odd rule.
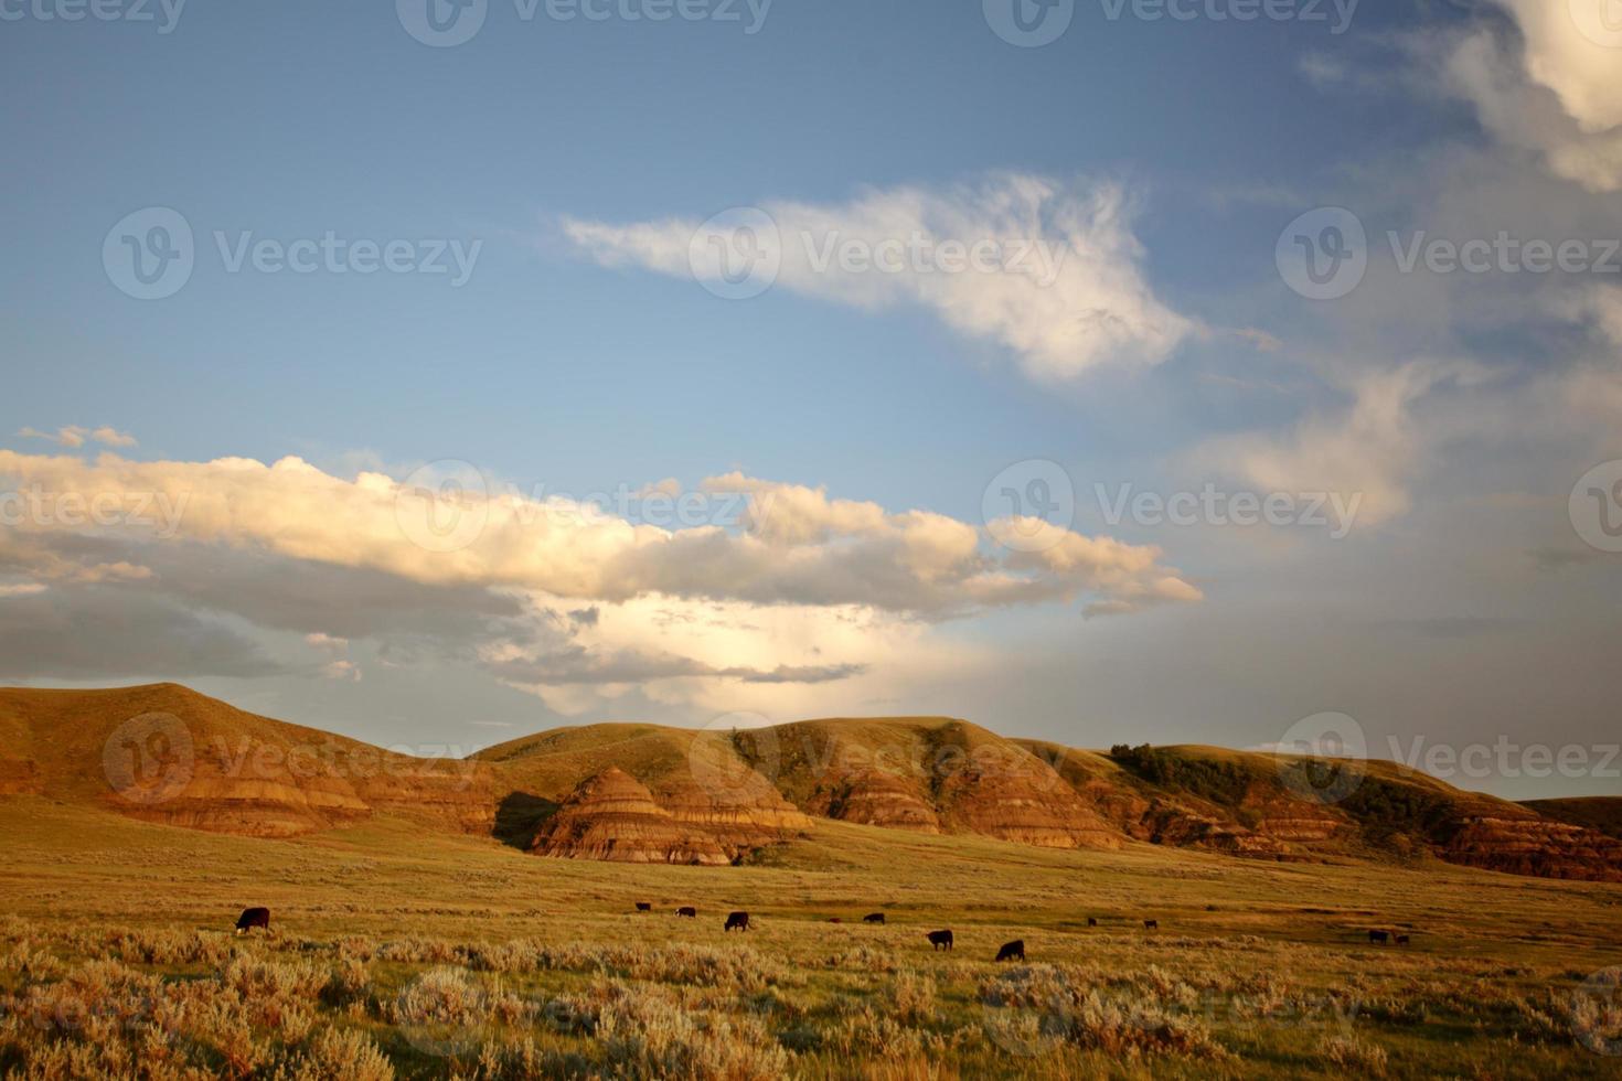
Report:
[[[362,677],[350,645],[367,639],[384,666],[427,655],[472,664],[564,711],[633,689],[655,702],[774,710],[809,707],[819,687],[878,697],[892,689],[879,668],[954,653],[931,639],[950,619],[1074,600],[1103,614],[1200,596],[1156,548],[1046,527],[1048,551],[1009,551],[998,543],[1002,523],[889,511],[744,473],[696,489],[744,507],[725,528],[633,523],[483,481],[349,480],[300,459],[0,449],[0,480],[28,493],[0,507],[0,574],[52,587],[11,590],[8,603],[49,605],[60,590],[70,606],[164,605],[198,627],[224,619],[266,642],[294,632],[331,679]],[[68,506],[102,512],[62,514]],[[144,663],[141,642],[122,655],[117,642],[101,642],[109,674]],[[222,648],[221,669],[264,663],[230,635]],[[73,653],[70,668],[91,664]],[[311,671],[308,660],[285,668]]]

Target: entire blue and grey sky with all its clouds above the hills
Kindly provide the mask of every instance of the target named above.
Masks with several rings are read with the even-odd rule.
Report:
[[[0,681],[1622,794],[1619,79],[1616,0],[0,0]]]

